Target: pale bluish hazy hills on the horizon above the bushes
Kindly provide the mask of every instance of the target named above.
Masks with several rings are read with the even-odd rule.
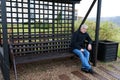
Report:
[[[95,21],[96,18],[88,18],[89,20],[93,20]],[[113,22],[116,25],[120,26],[120,16],[116,16],[116,17],[102,17],[101,21],[109,21],[109,22]]]

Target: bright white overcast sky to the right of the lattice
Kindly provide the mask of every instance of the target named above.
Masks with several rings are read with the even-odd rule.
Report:
[[[75,8],[78,9],[78,16],[84,17],[87,13],[93,0],[81,0],[80,4],[76,4]],[[120,0],[102,0],[101,17],[114,17],[120,16]],[[90,12],[88,17],[96,17],[97,2]]]

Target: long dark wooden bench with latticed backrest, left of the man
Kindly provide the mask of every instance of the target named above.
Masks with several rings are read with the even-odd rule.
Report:
[[[65,35],[54,35],[54,37]],[[68,36],[68,35],[67,35]],[[49,38],[49,39],[48,39]],[[31,63],[42,60],[72,57],[70,40],[55,40],[53,35],[11,35],[9,38],[10,59],[13,63],[17,79],[17,64]]]

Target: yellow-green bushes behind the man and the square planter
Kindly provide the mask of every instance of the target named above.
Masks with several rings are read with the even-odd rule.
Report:
[[[79,28],[81,20],[75,21],[75,30]],[[96,23],[94,21],[87,20],[85,22],[88,25],[88,33],[90,37],[95,40],[95,30],[96,30]],[[101,22],[100,30],[99,30],[99,40],[113,40],[113,41],[120,41],[118,37],[120,35],[120,27],[117,27],[112,22]]]

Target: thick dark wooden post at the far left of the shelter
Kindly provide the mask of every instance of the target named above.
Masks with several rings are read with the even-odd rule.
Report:
[[[7,18],[6,18],[6,0],[1,0],[1,18],[2,18],[2,31],[3,31],[3,62],[2,62],[2,73],[4,80],[10,80],[9,75],[9,54],[8,54],[8,38],[7,38]]]

